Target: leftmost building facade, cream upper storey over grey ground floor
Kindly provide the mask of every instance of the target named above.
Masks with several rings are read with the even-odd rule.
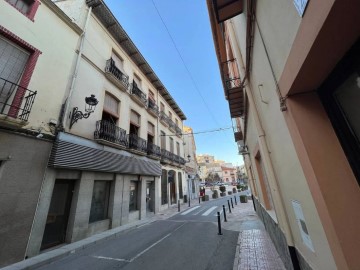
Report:
[[[81,33],[51,1],[0,2],[0,267],[26,258]]]

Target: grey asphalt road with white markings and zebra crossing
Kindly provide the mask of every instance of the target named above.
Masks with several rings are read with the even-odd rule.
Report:
[[[124,232],[39,269],[230,270],[239,232],[218,235],[216,223],[216,212],[227,199],[182,209],[168,220]]]

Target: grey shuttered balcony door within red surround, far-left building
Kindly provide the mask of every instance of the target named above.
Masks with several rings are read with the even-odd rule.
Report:
[[[11,104],[11,99],[16,92],[29,59],[29,53],[0,36],[0,114],[6,113],[6,104]]]

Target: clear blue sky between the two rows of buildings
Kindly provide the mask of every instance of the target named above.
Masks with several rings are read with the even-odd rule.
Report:
[[[186,115],[184,124],[195,133],[196,153],[243,164],[231,128],[206,0],[105,3]],[[224,130],[213,131],[218,129]]]

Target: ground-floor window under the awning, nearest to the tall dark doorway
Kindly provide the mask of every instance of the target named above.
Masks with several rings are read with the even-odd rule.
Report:
[[[94,181],[89,223],[108,218],[110,181]]]

